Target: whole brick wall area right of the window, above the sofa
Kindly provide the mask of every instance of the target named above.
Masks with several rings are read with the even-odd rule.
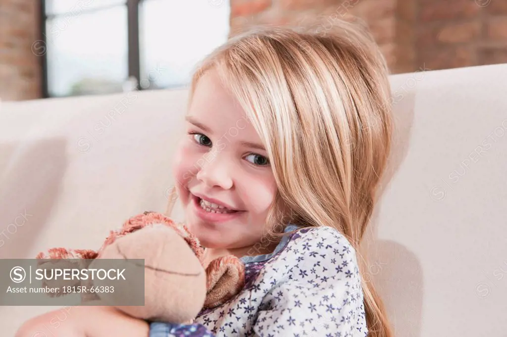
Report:
[[[231,34],[351,15],[369,24],[392,73],[507,62],[507,0],[231,0]]]

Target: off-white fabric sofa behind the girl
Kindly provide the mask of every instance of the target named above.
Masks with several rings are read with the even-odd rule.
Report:
[[[367,277],[398,337],[503,336],[507,64],[391,85],[396,138],[364,242]],[[97,248],[130,215],[164,211],[187,94],[1,103],[0,257]],[[182,219],[177,206],[172,215]],[[0,335],[49,309],[0,307]]]

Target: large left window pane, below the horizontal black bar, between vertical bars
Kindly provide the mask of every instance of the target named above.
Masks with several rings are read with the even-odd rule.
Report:
[[[128,77],[127,7],[46,22],[50,96],[121,92]]]

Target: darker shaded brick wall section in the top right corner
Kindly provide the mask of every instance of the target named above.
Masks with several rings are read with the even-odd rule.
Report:
[[[417,63],[431,69],[507,62],[507,1],[419,0]]]

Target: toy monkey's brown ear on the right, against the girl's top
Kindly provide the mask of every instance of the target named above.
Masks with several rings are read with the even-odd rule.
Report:
[[[204,308],[223,305],[243,289],[245,266],[233,255],[223,256],[211,261],[206,268],[206,300]]]

